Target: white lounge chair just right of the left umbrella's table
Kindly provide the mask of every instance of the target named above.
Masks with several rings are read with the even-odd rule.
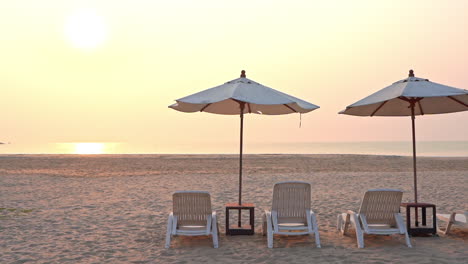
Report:
[[[273,235],[315,235],[320,248],[320,235],[315,214],[310,208],[310,184],[279,182],[273,187],[273,206],[263,215],[263,235],[268,248],[273,248]]]

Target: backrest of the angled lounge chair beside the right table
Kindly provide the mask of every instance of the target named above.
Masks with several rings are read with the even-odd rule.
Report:
[[[364,214],[368,224],[396,225],[395,214],[400,212],[403,192],[395,189],[368,190],[362,199],[359,214]]]

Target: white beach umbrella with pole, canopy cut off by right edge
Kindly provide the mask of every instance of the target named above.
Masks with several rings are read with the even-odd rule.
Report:
[[[340,114],[355,116],[411,116],[413,130],[414,202],[418,202],[416,176],[416,136],[414,120],[417,115],[443,114],[468,110],[468,90],[417,78],[413,70],[406,79],[373,93],[349,105]]]

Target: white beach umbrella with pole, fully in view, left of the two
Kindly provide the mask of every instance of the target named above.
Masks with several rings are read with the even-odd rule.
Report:
[[[261,85],[241,72],[240,78],[180,98],[169,106],[177,111],[240,115],[239,204],[242,204],[242,148],[244,114],[284,115],[319,108],[296,97]]]

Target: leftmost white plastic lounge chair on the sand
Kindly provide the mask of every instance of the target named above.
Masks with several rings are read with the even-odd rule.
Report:
[[[171,236],[213,237],[213,247],[218,248],[218,223],[216,212],[211,211],[208,192],[179,191],[172,195],[173,211],[167,221],[166,248],[171,246]]]

